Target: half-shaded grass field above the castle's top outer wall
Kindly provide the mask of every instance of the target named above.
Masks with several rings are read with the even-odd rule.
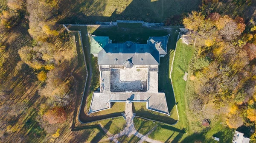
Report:
[[[66,0],[72,3],[62,15],[60,23],[88,24],[116,20],[144,20],[164,22],[166,18],[180,17],[184,12],[196,10],[200,0]]]

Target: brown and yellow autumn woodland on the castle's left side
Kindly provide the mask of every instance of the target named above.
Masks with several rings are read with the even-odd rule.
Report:
[[[56,123],[67,120],[74,83],[70,61],[56,60],[61,52],[57,47],[70,40],[55,25],[59,2],[7,0],[0,7],[0,142],[24,139],[20,130],[30,126],[31,108],[39,111],[36,120],[49,134],[56,132]]]

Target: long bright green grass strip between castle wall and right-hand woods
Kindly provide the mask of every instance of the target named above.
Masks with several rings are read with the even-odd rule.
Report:
[[[163,142],[173,141],[176,143],[176,142],[180,142],[183,138],[187,136],[187,134],[184,134],[184,133],[186,130],[189,130],[189,125],[188,125],[189,121],[186,115],[186,111],[187,111],[186,98],[185,98],[186,81],[183,80],[183,76],[184,76],[184,73],[188,71],[189,62],[192,59],[194,50],[195,49],[192,46],[183,44],[181,40],[177,42],[177,48],[176,48],[175,59],[173,63],[173,71],[172,71],[172,84],[174,86],[180,120],[175,126],[167,126],[167,125],[158,126],[157,129],[155,129],[149,135],[149,137],[151,137],[154,140],[160,140]],[[168,60],[169,69],[165,70],[165,72],[168,73],[165,75],[168,77],[169,77],[169,72],[171,70],[172,58],[173,58],[173,53],[170,54],[169,56],[169,60]],[[160,68],[164,68],[164,67],[160,67]],[[160,80],[164,81],[165,79],[168,79],[168,78],[166,78],[165,76],[161,76]],[[172,89],[172,86],[170,86],[167,82],[166,83],[163,82],[162,85],[165,88],[169,87]],[[172,100],[174,101],[174,98],[172,98]]]

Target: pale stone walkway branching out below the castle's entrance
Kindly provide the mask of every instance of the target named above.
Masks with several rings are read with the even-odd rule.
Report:
[[[132,103],[131,103],[131,101],[126,101],[126,105],[125,105],[126,126],[125,126],[125,129],[123,129],[118,134],[112,135],[110,132],[108,132],[107,129],[104,128],[104,126],[99,124],[99,126],[103,129],[103,131],[109,136],[107,139],[104,139],[104,140],[101,140],[101,141],[113,140],[115,143],[120,143],[117,140],[119,137],[122,137],[123,135],[126,135],[128,137],[131,137],[131,135],[135,135],[135,136],[140,138],[140,141],[138,143],[143,143],[143,141],[146,141],[146,142],[149,142],[149,143],[161,143],[160,141],[148,138],[148,135],[150,135],[151,132],[153,132],[154,129],[156,129],[157,125],[154,126],[154,128],[151,129],[146,135],[142,135],[139,132],[137,132],[137,130],[134,127],[134,122],[133,122],[134,117],[135,116],[133,115],[133,112],[132,112]]]

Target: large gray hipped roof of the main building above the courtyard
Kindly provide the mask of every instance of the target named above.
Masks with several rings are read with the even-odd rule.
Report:
[[[128,59],[132,64],[159,64],[159,53],[147,44],[108,44],[98,53],[98,64],[124,64]]]

